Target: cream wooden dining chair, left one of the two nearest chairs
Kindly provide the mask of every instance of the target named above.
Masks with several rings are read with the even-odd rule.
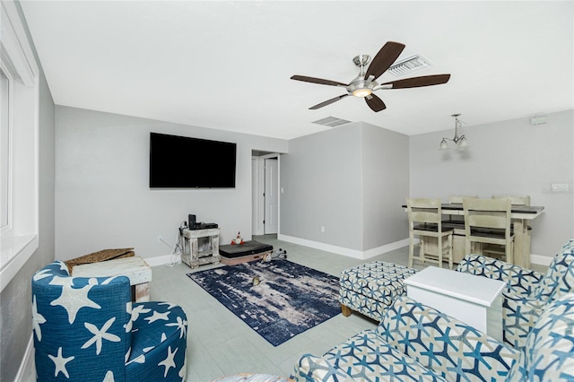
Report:
[[[453,267],[452,235],[454,230],[442,226],[440,199],[406,198],[409,219],[409,267],[413,267],[414,240],[419,238],[419,260],[442,267],[446,256]]]

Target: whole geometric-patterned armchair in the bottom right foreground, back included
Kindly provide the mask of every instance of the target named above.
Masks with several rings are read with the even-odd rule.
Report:
[[[574,293],[550,302],[524,352],[406,297],[383,322],[322,357],[304,354],[298,381],[572,381]]]

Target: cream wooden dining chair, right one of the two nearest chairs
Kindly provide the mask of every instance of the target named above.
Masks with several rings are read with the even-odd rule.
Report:
[[[466,254],[483,255],[488,245],[504,247],[507,263],[513,263],[514,234],[510,230],[509,199],[464,199]],[[476,245],[478,244],[478,246]]]

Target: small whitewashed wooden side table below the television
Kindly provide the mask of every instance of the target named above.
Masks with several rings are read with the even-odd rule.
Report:
[[[219,228],[205,230],[183,230],[184,246],[181,261],[196,268],[199,265],[217,264],[222,256],[219,254]],[[197,239],[208,238],[209,248],[199,250]]]

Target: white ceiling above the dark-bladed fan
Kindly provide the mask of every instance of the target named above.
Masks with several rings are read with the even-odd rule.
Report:
[[[574,109],[572,1],[30,1],[22,9],[57,105],[291,139],[364,121],[406,135]],[[387,40],[431,67],[378,82],[452,74],[447,84],[381,90],[373,112],[333,86],[352,58]]]

